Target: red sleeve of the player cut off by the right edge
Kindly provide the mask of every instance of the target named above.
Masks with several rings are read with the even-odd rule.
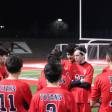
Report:
[[[94,87],[92,88],[91,92],[91,100],[97,100],[100,98],[100,78],[99,75],[96,77],[94,82]]]

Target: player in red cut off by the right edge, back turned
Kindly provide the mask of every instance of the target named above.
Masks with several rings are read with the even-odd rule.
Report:
[[[101,99],[99,112],[112,112],[112,45],[106,49],[108,70],[97,75],[91,93],[91,106]]]

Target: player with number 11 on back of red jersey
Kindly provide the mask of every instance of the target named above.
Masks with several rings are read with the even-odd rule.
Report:
[[[18,79],[23,61],[16,55],[6,60],[9,77],[0,81],[0,112],[27,112],[32,94],[29,85]]]

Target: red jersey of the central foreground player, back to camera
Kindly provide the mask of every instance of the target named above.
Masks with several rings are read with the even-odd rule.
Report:
[[[29,112],[75,112],[70,92],[59,87],[45,87],[32,98]]]

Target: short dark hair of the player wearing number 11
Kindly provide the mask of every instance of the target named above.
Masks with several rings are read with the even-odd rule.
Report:
[[[23,61],[18,55],[10,55],[6,59],[6,67],[9,73],[17,73],[23,66]]]

